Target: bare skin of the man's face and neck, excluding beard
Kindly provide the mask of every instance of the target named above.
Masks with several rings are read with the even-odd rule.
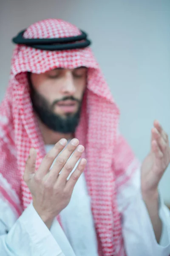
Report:
[[[47,99],[49,105],[52,105],[55,100],[62,100],[65,96],[74,96],[76,99],[81,100],[87,79],[87,68],[79,67],[76,69],[55,69],[41,74],[31,74],[31,82],[34,88],[45,99]],[[78,110],[77,108],[74,112]],[[56,106],[54,113],[65,116],[65,113]],[[40,130],[45,144],[55,144],[62,138],[67,140],[73,137],[73,134],[61,134],[51,131],[42,122],[39,121]]]

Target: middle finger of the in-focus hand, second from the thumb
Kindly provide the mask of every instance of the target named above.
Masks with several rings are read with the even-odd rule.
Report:
[[[62,153],[57,157],[54,166],[48,173],[48,181],[49,183],[56,183],[57,177],[59,175],[59,172],[61,172],[62,168],[65,166],[65,163],[68,161],[68,158],[73,154],[74,150],[77,148],[77,145],[79,144],[79,140],[73,139],[71,142],[67,145],[67,147],[62,151]],[[78,161],[78,159],[77,159]],[[60,176],[60,175],[59,175]]]

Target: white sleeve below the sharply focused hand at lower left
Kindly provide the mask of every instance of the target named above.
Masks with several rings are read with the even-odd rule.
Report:
[[[65,256],[32,204],[17,219],[0,199],[0,255]]]

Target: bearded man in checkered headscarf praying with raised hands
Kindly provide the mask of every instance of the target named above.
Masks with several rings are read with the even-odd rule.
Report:
[[[159,122],[140,166],[85,32],[48,19],[13,41],[0,107],[1,255],[169,256]]]

